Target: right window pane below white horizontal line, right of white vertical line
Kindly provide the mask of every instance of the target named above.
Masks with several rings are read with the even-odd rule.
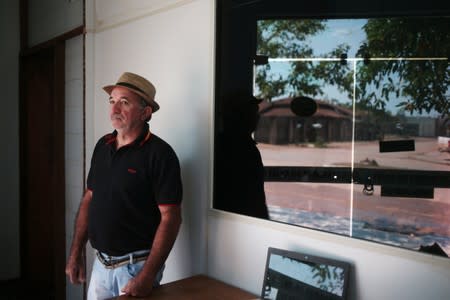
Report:
[[[353,236],[449,255],[450,189],[422,180],[450,172],[448,117],[434,109],[448,102],[448,61],[358,62],[356,74],[354,166],[366,185],[354,186]]]

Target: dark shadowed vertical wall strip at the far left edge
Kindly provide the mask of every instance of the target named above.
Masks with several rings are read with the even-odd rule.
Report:
[[[0,1],[0,280],[19,276],[19,1]]]

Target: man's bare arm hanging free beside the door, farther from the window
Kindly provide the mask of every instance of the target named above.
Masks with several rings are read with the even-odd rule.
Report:
[[[84,265],[84,247],[86,246],[88,235],[88,211],[92,199],[92,191],[86,190],[78,208],[72,246],[66,264],[66,274],[70,282],[80,284],[86,281],[86,269]]]

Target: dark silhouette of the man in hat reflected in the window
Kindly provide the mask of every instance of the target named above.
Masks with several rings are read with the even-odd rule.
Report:
[[[222,128],[216,136],[215,208],[267,219],[264,166],[252,138],[258,104],[249,93],[226,97]]]

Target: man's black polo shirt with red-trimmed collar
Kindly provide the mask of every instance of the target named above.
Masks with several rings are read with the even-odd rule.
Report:
[[[151,248],[161,220],[158,206],[180,204],[182,184],[174,150],[148,124],[118,150],[116,136],[114,131],[102,137],[92,155],[88,235],[95,249],[124,255]]]

